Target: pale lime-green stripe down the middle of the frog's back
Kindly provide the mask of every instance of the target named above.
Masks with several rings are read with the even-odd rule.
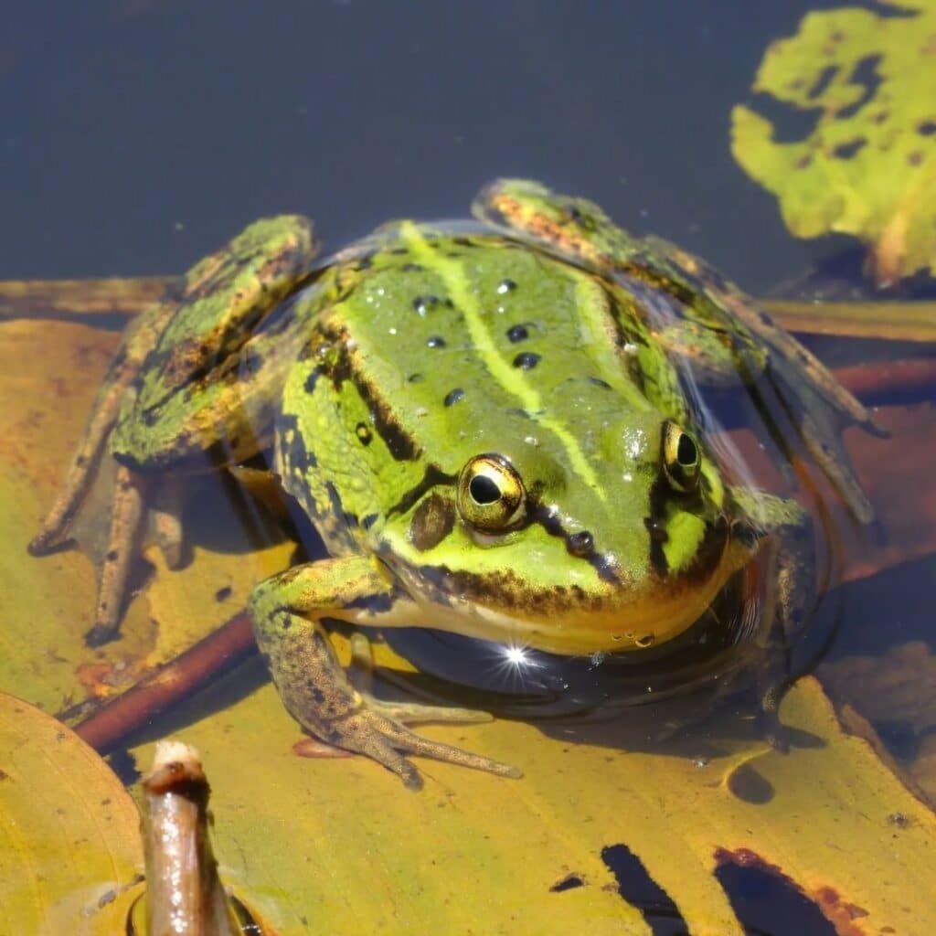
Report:
[[[536,390],[527,382],[525,372],[512,367],[509,361],[501,357],[490,330],[485,326],[477,297],[465,277],[461,263],[457,259],[442,256],[438,251],[432,250],[419,228],[411,221],[402,223],[400,236],[403,243],[413,252],[413,256],[417,257],[418,262],[428,270],[438,273],[446,284],[449,298],[464,316],[465,326],[475,344],[475,351],[487,365],[490,375],[507,393],[517,398],[520,406],[533,416],[540,426],[559,439],[573,471],[602,501],[607,502],[605,491],[598,484],[598,478],[578,446],[576,437],[561,422],[542,415],[543,402]]]

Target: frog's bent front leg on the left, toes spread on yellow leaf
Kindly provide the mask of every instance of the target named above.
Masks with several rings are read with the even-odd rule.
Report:
[[[406,754],[422,754],[502,777],[517,768],[422,738],[404,722],[477,721],[477,713],[413,703],[378,702],[348,681],[331,647],[324,619],[397,623],[384,608],[395,594],[372,559],[352,556],[306,563],[268,578],[250,600],[256,641],[286,709],[317,738],[366,754],[410,789],[422,780]]]

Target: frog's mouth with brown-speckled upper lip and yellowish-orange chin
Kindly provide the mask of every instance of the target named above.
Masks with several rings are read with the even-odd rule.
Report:
[[[417,626],[579,655],[646,650],[680,636],[743,564],[741,554],[751,555],[736,548],[728,523],[719,519],[709,524],[693,562],[677,572],[651,568],[639,582],[628,582],[612,555],[598,553],[606,571],[591,591],[537,589],[509,567],[478,575],[392,562],[391,571],[405,595],[397,612]]]

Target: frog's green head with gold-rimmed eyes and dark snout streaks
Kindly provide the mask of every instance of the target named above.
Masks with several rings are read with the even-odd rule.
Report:
[[[388,564],[435,626],[556,652],[639,650],[698,620],[750,555],[702,441],[652,408],[513,438],[462,450],[386,531]]]

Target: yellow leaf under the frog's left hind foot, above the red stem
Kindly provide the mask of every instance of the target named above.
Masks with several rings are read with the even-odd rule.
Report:
[[[130,603],[122,639],[90,650],[95,569],[79,550],[39,559],[26,546],[62,483],[119,336],[65,322],[0,322],[0,688],[57,711],[110,695],[190,647],[244,606],[254,582],[284,568],[292,545],[264,545],[226,490],[193,481],[193,562],[154,576]]]

